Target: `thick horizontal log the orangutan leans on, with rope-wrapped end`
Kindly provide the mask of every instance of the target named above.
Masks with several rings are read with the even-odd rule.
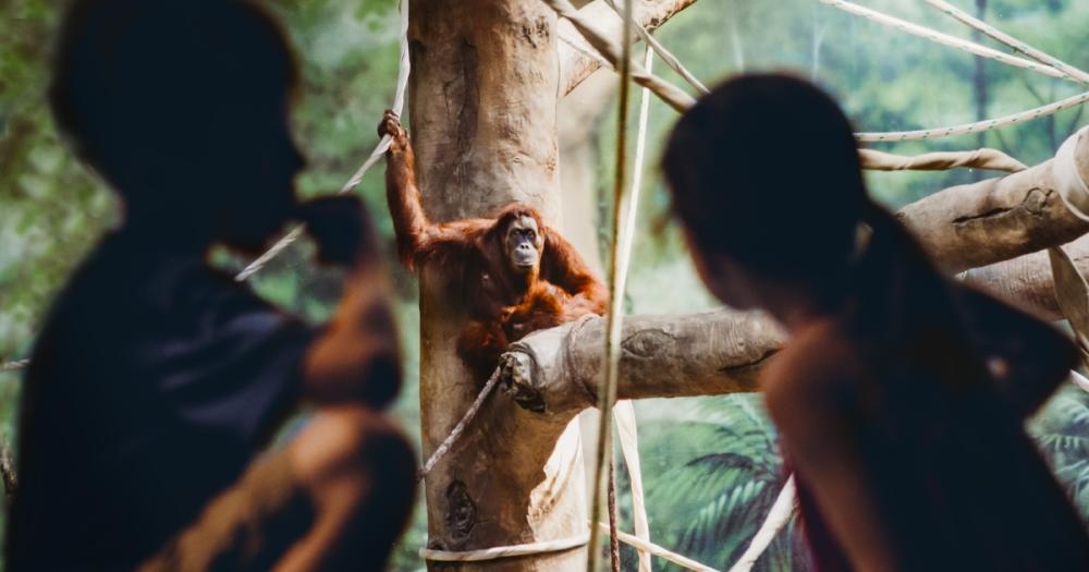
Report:
[[[522,406],[574,415],[597,402],[605,319],[591,317],[515,342],[500,367]],[[766,315],[720,309],[624,320],[619,399],[755,391],[763,362],[782,343]]]

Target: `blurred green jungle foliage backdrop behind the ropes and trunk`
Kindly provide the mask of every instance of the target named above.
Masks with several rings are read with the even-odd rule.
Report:
[[[370,153],[377,139],[375,125],[392,101],[397,63],[395,1],[268,3],[290,32],[304,72],[303,97],[294,121],[309,167],[299,180],[299,191],[304,196],[335,191]],[[966,27],[921,0],[861,3],[975,38]],[[1075,66],[1089,69],[1089,1],[955,3],[982,13],[986,21]],[[34,334],[65,276],[121,217],[110,192],[64,146],[44,104],[49,46],[61,5],[53,0],[0,1],[0,363],[29,354]],[[701,0],[656,35],[709,85],[745,71],[790,70],[811,77],[839,97],[859,131],[964,123],[1078,93],[1076,85],[991,61],[977,62],[964,52],[844,14],[816,0]],[[641,50],[640,45],[637,53]],[[664,66],[658,70],[682,84]],[[1089,123],[1084,107],[978,136],[881,148],[910,155],[991,146],[1033,165],[1050,158],[1070,133]],[[714,305],[696,279],[675,228],[658,229],[668,200],[657,157],[675,119],[671,109],[652,101],[650,160],[625,300],[626,309],[634,314],[693,312]],[[597,188],[589,192],[598,197],[599,217],[610,207],[614,122],[615,109],[607,108],[592,131],[598,172]],[[634,126],[629,136],[635,136]],[[784,151],[793,147],[800,147],[798,153],[806,150],[784,134]],[[408,375],[396,415],[418,442],[416,283],[392,256],[392,226],[381,171],[381,165],[371,170],[356,192],[367,200],[388,245]],[[895,208],[993,174],[957,170],[870,173],[868,178],[871,191]],[[819,188],[815,181],[813,192]],[[602,252],[607,243],[608,236],[602,234]],[[326,318],[338,299],[341,276],[315,266],[311,255],[313,248],[305,243],[289,250],[257,275],[253,287],[309,319]],[[245,263],[228,253],[216,258],[227,268],[241,268]],[[95,328],[87,324],[86,334],[95,336]],[[20,382],[17,372],[0,372],[0,436],[8,443],[15,438]],[[638,402],[636,410],[652,539],[708,565],[729,567],[762,522],[782,485],[776,433],[759,397],[647,400]],[[1089,514],[1089,395],[1064,388],[1029,429],[1072,498],[1084,514]],[[626,514],[627,483],[624,472],[620,474],[621,504]],[[996,518],[1001,518],[1001,510],[1002,499],[994,499]],[[424,519],[420,500],[393,570],[424,569],[416,556],[426,544]],[[794,528],[780,535],[757,569],[805,570],[797,541]],[[625,568],[634,570],[634,555],[625,550],[624,556]],[[673,570],[660,560],[656,567]]]

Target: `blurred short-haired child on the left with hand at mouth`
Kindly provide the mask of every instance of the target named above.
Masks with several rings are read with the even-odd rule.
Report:
[[[297,204],[298,77],[246,0],[79,0],[51,104],[124,222],[56,300],[26,378],[9,570],[381,570],[414,458],[360,203]],[[320,329],[213,269],[290,220],[351,277]],[[301,401],[313,422],[255,460]]]

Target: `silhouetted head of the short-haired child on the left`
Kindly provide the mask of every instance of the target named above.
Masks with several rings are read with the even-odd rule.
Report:
[[[247,0],[76,0],[50,102],[127,221],[258,246],[291,217],[297,83],[276,22]]]

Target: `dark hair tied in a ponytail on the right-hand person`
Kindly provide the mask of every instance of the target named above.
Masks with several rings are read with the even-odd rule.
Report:
[[[700,252],[809,284],[818,302],[853,295],[886,330],[913,313],[950,309],[922,248],[867,195],[851,122],[809,82],[723,83],[677,122],[663,168]],[[859,257],[860,223],[871,232]]]

